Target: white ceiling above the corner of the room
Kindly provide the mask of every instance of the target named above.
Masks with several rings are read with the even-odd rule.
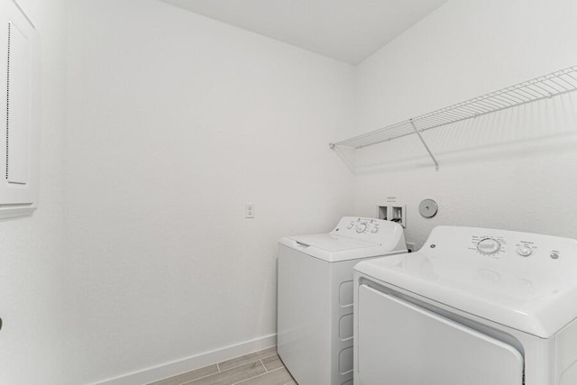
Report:
[[[358,64],[447,0],[160,0]]]

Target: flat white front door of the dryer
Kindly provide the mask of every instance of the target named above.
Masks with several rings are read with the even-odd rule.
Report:
[[[515,348],[361,285],[360,385],[522,385]]]

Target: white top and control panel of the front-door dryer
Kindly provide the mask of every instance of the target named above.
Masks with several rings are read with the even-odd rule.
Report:
[[[419,252],[362,261],[355,270],[542,338],[577,318],[572,239],[439,226]]]

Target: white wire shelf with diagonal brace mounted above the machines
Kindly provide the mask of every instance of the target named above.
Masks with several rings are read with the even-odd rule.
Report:
[[[438,170],[439,164],[421,135],[424,131],[491,114],[516,107],[517,105],[526,105],[537,100],[567,94],[575,90],[577,90],[577,66],[561,69],[515,86],[474,97],[456,105],[450,105],[397,124],[390,124],[371,133],[364,133],[341,142],[330,143],[329,146],[332,149],[338,147],[361,149],[362,147],[416,134],[435,163],[435,169]]]

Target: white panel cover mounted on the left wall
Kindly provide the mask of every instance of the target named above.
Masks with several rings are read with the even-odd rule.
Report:
[[[0,218],[31,215],[38,199],[40,46],[14,0],[0,0]]]

